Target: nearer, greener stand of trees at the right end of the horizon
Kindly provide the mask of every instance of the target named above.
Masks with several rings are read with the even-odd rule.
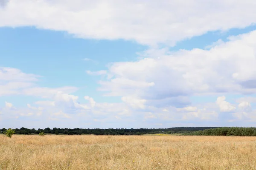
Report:
[[[186,132],[186,136],[256,136],[256,127],[218,127]]]

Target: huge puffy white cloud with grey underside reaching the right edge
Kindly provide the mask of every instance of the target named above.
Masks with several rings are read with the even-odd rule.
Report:
[[[99,90],[147,102],[190,95],[254,94],[255,39],[256,31],[252,31],[209,50],[160,51],[159,55],[154,50],[147,52],[147,59],[115,62],[108,70],[113,76],[100,81]]]

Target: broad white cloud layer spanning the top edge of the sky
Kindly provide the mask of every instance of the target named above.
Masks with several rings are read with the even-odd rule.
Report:
[[[255,8],[254,0],[10,0],[0,9],[0,26],[35,26],[88,39],[174,45],[207,31],[256,23]]]

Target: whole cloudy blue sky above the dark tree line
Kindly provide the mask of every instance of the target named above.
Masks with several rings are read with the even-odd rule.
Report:
[[[255,9],[0,0],[0,128],[256,127]]]

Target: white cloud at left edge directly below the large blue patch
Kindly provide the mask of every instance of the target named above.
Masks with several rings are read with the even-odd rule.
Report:
[[[87,105],[81,105],[78,102],[78,96],[72,95],[78,90],[76,87],[60,87],[60,88],[45,88],[38,87],[36,82],[40,76],[34,74],[26,74],[16,68],[0,68],[0,96],[7,95],[24,95],[34,96],[41,99],[49,99],[49,101],[38,101],[36,104],[43,106],[52,106],[63,110],[64,112],[73,113],[74,110],[87,109]],[[8,108],[14,108],[11,103],[6,103]],[[42,111],[39,108],[27,105],[30,110],[38,110],[35,115],[41,115]],[[52,111],[52,110],[50,110]],[[27,112],[24,109],[24,112]],[[20,113],[20,116],[26,116],[28,113]],[[76,112],[76,111],[75,111]],[[32,114],[29,113],[29,116]]]

